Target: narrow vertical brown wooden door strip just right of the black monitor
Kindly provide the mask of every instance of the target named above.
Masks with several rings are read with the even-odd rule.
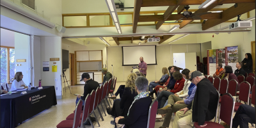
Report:
[[[70,85],[74,86],[76,84],[75,81],[75,54],[74,53],[70,53],[69,54],[69,60],[70,60]]]

